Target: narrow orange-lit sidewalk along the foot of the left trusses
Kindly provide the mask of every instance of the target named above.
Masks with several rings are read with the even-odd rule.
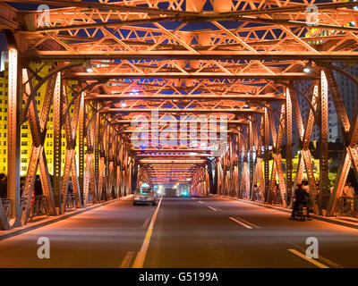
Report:
[[[98,208],[100,206],[107,206],[109,204],[115,203],[115,202],[117,202],[119,200],[122,200],[124,198],[129,198],[131,196],[132,195],[122,197],[122,198],[115,198],[115,199],[112,199],[112,200],[109,200],[109,201],[106,201],[106,202],[102,202],[102,203],[99,203],[99,204],[87,206],[86,208],[76,208],[76,209],[70,210],[70,211],[68,211],[68,212],[66,212],[64,214],[60,214],[60,215],[46,216],[46,218],[44,218],[44,219],[40,219],[40,220],[33,221],[33,222],[29,221],[26,225],[23,225],[21,227],[13,228],[13,229],[8,230],[8,231],[1,231],[0,230],[0,240],[5,240],[5,239],[11,238],[13,236],[19,235],[19,234],[27,232],[27,231],[33,231],[33,230],[36,230],[36,229],[38,229],[38,228],[40,228],[42,226],[45,226],[45,225],[48,225],[48,224],[51,224],[51,223],[56,223],[56,222],[59,222],[59,221],[63,221],[66,218],[72,217],[72,216],[74,216],[76,214],[82,214],[82,213],[88,212],[88,211],[90,211],[92,209]]]

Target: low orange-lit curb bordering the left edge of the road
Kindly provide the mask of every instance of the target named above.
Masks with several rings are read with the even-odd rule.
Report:
[[[70,214],[61,214],[61,215],[52,216],[53,218],[48,218],[47,221],[45,221],[45,222],[39,222],[39,223],[36,223],[36,224],[33,224],[33,225],[24,225],[24,226],[21,226],[19,228],[13,229],[13,230],[4,231],[5,232],[4,234],[1,234],[1,232],[0,232],[0,241],[12,238],[14,236],[20,235],[20,234],[28,232],[28,231],[36,230],[36,229],[38,229],[40,227],[46,226],[46,225],[51,224],[51,223],[57,223],[57,222],[63,221],[65,219],[67,219],[69,217],[72,217],[74,215],[77,215],[77,214],[86,213],[86,212],[88,212],[90,210],[93,210],[93,209],[96,209],[96,208],[98,208],[100,206],[107,206],[109,204],[113,204],[115,202],[123,200],[123,198],[127,198],[127,196],[122,197],[122,198],[115,198],[115,199],[112,199],[110,201],[99,203],[99,204],[92,205],[92,206],[88,206],[88,207],[83,208],[83,209],[80,208],[78,210],[73,211]]]

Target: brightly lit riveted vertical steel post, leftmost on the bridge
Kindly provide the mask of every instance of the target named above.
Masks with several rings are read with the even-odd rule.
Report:
[[[9,82],[7,109],[7,197],[11,199],[10,215],[12,219],[20,215],[20,129],[19,108],[21,103],[19,90],[18,52],[9,50]],[[19,221],[16,221],[16,225]]]

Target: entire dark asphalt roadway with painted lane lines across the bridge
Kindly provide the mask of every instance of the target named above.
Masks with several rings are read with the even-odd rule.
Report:
[[[49,259],[37,256],[40,237]],[[309,237],[318,259],[304,256]],[[126,198],[0,240],[0,267],[358,267],[356,257],[356,229],[223,198]]]

